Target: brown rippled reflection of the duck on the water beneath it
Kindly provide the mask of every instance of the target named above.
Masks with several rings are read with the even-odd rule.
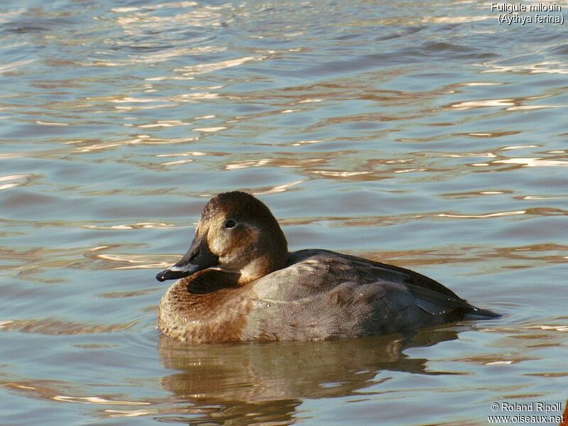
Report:
[[[162,386],[191,403],[209,421],[295,422],[302,398],[333,398],[357,393],[388,380],[381,371],[427,371],[427,359],[404,349],[457,339],[452,329],[427,329],[412,337],[366,337],[332,342],[190,345],[160,337],[166,368],[178,370]],[[180,420],[177,417],[178,421]]]

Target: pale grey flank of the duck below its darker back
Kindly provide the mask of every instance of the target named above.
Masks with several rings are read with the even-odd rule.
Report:
[[[271,299],[253,291],[244,334],[254,340],[407,334],[464,317],[451,300],[438,300],[439,293],[419,291],[417,296],[408,285],[388,281],[346,281],[294,300]]]

